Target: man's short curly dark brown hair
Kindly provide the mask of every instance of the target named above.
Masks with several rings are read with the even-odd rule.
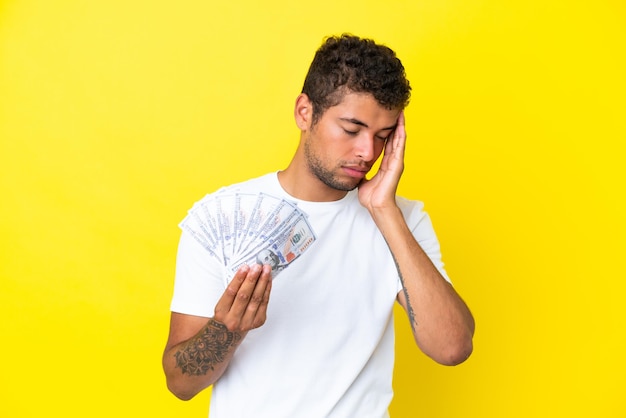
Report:
[[[411,86],[390,48],[350,34],[330,36],[315,53],[302,87],[313,104],[313,124],[349,92],[370,93],[386,109],[404,109]]]

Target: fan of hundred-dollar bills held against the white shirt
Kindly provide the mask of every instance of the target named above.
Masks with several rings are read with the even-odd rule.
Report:
[[[269,264],[276,276],[315,242],[307,215],[265,193],[221,192],[197,202],[180,223],[230,275],[244,264]]]

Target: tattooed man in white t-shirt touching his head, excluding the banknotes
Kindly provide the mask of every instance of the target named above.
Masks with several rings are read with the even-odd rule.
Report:
[[[409,96],[389,48],[350,35],[320,47],[296,100],[289,166],[226,188],[295,202],[316,241],[275,280],[254,263],[231,278],[183,231],[163,356],[176,396],[214,384],[212,418],[386,417],[395,301],[424,353],[467,359],[472,315],[423,205],[396,196]]]

